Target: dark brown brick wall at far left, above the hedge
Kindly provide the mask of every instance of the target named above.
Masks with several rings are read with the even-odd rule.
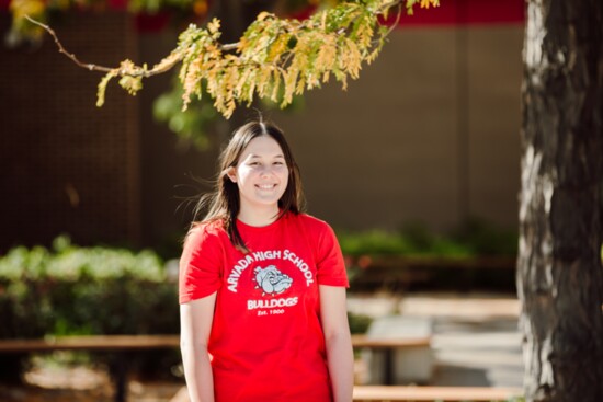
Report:
[[[0,32],[9,18],[0,14]],[[84,62],[136,59],[137,34],[123,13],[53,22]],[[95,107],[100,73],[77,67],[49,36],[38,48],[0,46],[0,250],[48,243],[139,239],[137,99],[115,82]]]

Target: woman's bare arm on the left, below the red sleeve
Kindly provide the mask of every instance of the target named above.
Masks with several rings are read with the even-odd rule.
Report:
[[[207,340],[216,292],[180,306],[180,351],[191,402],[214,402],[214,377]]]

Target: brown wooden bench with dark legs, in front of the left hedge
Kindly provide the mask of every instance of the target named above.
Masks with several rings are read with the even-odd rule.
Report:
[[[365,335],[352,335],[352,345],[354,348],[386,351],[388,358],[386,358],[386,367],[384,369],[392,374],[394,351],[429,346],[430,338],[384,341],[371,340]],[[54,351],[103,351],[118,353],[120,358],[116,360],[114,378],[116,402],[126,401],[127,352],[178,347],[180,347],[180,335],[84,335],[36,340],[0,340],[0,354]]]

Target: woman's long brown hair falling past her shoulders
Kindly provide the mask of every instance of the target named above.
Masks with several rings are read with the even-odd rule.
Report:
[[[283,131],[272,123],[250,122],[239,127],[228,146],[221,152],[219,158],[219,172],[216,177],[214,191],[205,194],[198,200],[195,207],[195,216],[198,216],[203,209],[208,208],[202,222],[221,219],[225,230],[232,244],[243,251],[249,252],[239,230],[237,229],[237,216],[240,210],[239,187],[228,176],[228,172],[239,163],[241,153],[244,151],[252,139],[260,136],[270,136],[274,139],[285,157],[289,176],[285,193],[278,199],[280,219],[286,213],[299,214],[302,211],[304,195],[302,191],[302,180],[299,168],[293,158],[291,147],[288,146]],[[198,222],[193,222],[196,226]]]

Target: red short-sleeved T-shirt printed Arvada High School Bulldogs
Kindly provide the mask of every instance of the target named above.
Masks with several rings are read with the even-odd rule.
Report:
[[[191,230],[180,260],[181,303],[217,291],[208,341],[216,402],[331,401],[318,285],[348,287],[333,230],[291,213],[237,228],[248,254],[214,221]]]

